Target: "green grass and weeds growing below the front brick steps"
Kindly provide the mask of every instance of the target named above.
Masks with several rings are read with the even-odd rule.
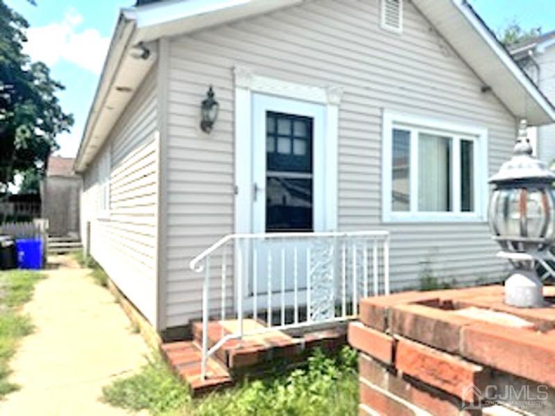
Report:
[[[162,361],[155,358],[142,370],[103,389],[104,400],[129,410],[152,415],[234,416],[357,414],[357,354],[345,347],[339,356],[316,352],[307,364],[289,372],[201,399],[191,399],[187,387]]]

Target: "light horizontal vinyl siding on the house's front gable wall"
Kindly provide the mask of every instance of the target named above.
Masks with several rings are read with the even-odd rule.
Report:
[[[490,173],[511,155],[515,135],[513,116],[495,95],[481,93],[481,80],[409,1],[403,27],[402,35],[380,28],[378,0],[315,0],[171,40],[168,327],[200,317],[202,277],[187,263],[234,231],[236,65],[280,80],[343,87],[339,229],[391,231],[394,289],[418,286],[425,268],[461,284],[502,276],[506,264],[495,257],[486,223],[382,223],[384,109],[488,128]],[[198,128],[199,105],[211,84],[221,110],[207,136]],[[215,302],[219,291],[212,294]]]

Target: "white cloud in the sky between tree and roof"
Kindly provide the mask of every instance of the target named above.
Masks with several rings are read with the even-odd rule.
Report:
[[[59,23],[29,28],[24,52],[33,61],[40,60],[49,66],[66,60],[93,73],[101,73],[110,38],[102,37],[96,29],[79,31],[82,23],[83,16],[69,9]]]

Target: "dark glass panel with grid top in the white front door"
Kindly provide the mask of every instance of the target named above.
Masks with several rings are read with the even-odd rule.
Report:
[[[266,120],[277,126],[266,128],[266,231],[312,231],[313,120],[276,112]]]

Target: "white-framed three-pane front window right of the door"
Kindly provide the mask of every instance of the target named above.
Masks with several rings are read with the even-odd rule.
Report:
[[[484,220],[486,140],[484,129],[385,112],[384,220]]]

